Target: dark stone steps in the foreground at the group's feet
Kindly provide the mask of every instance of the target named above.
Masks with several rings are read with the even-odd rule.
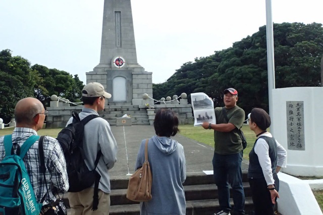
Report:
[[[205,175],[203,172],[187,173],[184,183],[186,196],[186,214],[203,215],[213,214],[219,209],[217,186],[213,184],[213,175]],[[138,202],[126,198],[129,176],[111,178],[111,207],[110,215],[139,215]],[[252,209],[252,199],[249,183],[247,182],[247,170],[243,170],[243,187],[245,192],[246,214]],[[232,192],[230,190],[232,196]],[[68,200],[66,199],[68,204]],[[233,199],[231,199],[233,205]]]

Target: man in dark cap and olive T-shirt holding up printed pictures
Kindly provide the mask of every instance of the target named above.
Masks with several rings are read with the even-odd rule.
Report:
[[[242,186],[242,141],[237,131],[245,118],[244,111],[237,106],[238,91],[228,88],[224,91],[226,121],[222,108],[214,109],[217,124],[203,122],[204,129],[214,130],[213,176],[218,186],[220,211],[214,214],[230,215],[229,184],[233,189],[234,214],[244,214],[244,192]]]

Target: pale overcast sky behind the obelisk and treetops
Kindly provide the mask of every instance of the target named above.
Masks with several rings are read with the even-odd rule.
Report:
[[[112,1],[112,0],[109,0]],[[138,63],[153,83],[266,23],[265,0],[132,0]],[[273,21],[323,23],[322,0],[273,0]],[[103,0],[0,0],[0,50],[78,74],[100,58]]]

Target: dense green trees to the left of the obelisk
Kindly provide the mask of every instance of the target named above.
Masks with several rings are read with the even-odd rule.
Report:
[[[11,50],[0,51],[0,118],[8,123],[14,116],[17,101],[35,97],[49,106],[50,96],[56,94],[72,102],[80,101],[83,82],[78,75],[33,65]]]

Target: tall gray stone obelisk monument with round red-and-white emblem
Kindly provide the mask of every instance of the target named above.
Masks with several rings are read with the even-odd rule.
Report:
[[[142,105],[143,93],[152,98],[151,78],[137,62],[130,0],[104,0],[100,63],[86,83],[101,83],[112,94],[109,103]]]

